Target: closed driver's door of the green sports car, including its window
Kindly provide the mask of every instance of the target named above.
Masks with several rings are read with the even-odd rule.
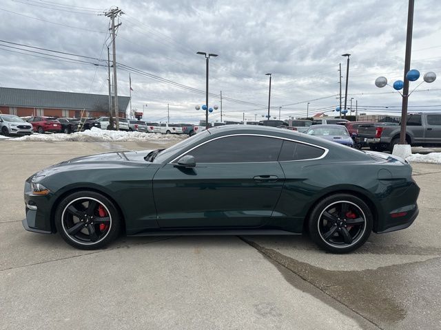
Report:
[[[209,140],[185,155],[194,168],[181,168],[176,155],[153,179],[161,228],[256,228],[271,217],[285,175],[277,162],[283,140],[229,135]]]

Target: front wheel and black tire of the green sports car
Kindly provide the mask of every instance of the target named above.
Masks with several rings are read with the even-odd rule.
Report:
[[[57,206],[54,221],[64,241],[81,250],[104,248],[121,232],[114,203],[94,191],[73,192],[65,197]]]

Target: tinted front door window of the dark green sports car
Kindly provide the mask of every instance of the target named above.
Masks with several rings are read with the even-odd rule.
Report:
[[[198,146],[188,155],[196,163],[277,162],[283,140],[240,135],[221,137]]]

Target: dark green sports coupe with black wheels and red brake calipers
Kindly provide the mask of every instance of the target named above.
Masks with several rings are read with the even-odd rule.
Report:
[[[26,230],[81,249],[127,235],[302,234],[355,250],[409,227],[420,188],[404,160],[265,126],[218,126],[155,151],[71,159],[25,181]]]

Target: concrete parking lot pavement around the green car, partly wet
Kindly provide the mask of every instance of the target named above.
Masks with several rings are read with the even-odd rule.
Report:
[[[0,142],[0,329],[441,329],[441,166],[413,164],[420,216],[326,254],[300,236],[121,238],[74,250],[25,232],[23,181],[148,142]]]

